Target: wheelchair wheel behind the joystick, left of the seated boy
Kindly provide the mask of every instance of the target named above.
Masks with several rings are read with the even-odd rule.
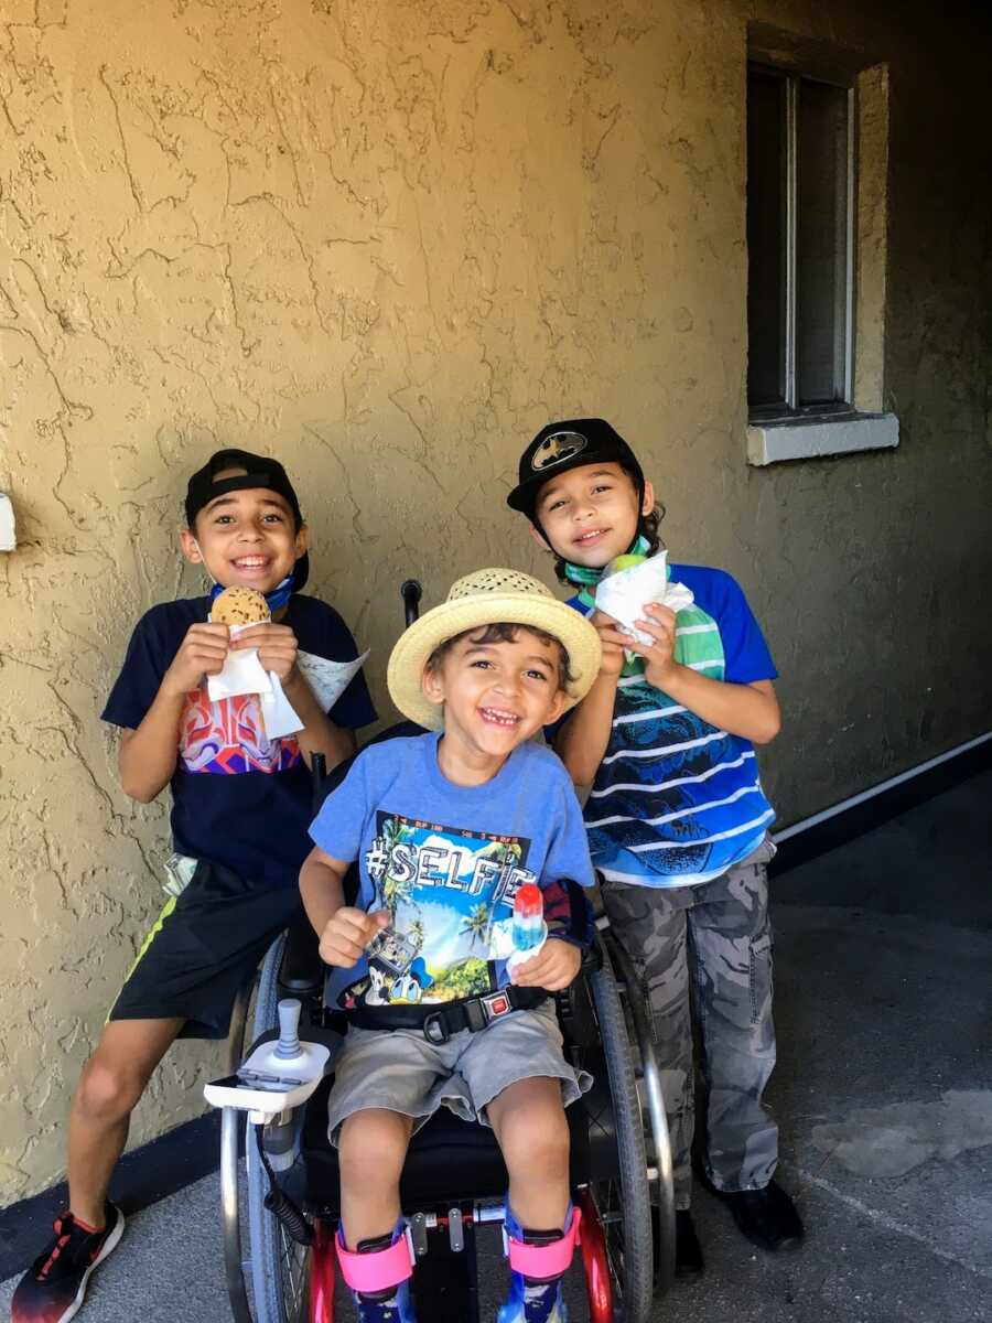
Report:
[[[258,980],[253,1040],[278,1024],[279,967],[286,938],[269,949]],[[247,1126],[249,1245],[255,1323],[308,1323],[310,1248],[290,1236],[283,1222],[266,1208],[269,1176],[258,1151],[258,1127]],[[280,1175],[292,1187],[292,1171]]]

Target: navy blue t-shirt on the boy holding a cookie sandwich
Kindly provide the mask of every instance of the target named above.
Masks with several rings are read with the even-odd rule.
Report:
[[[208,597],[163,602],[131,635],[103,720],[136,729],[155,701],[190,624],[206,623]],[[358,655],[333,607],[294,595],[280,624],[300,650],[329,662]],[[376,720],[361,671],[328,713],[357,729]],[[270,740],[258,695],[212,703],[206,683],[186,695],[172,777],[172,836],[181,855],[209,859],[263,886],[296,886],[310,853],[311,779],[295,736]]]

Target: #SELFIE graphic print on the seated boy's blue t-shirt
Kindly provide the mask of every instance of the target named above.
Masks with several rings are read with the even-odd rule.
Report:
[[[513,897],[537,878],[530,841],[380,810],[365,867],[369,912],[390,925],[368,950],[368,975],[340,1004],[397,1005],[477,996],[496,986],[492,962],[509,950]]]

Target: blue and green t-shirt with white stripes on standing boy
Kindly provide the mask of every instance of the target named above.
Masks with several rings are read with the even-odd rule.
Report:
[[[743,591],[723,570],[669,565],[694,602],[676,617],[675,659],[713,680],[778,675]],[[569,602],[591,614],[589,594]],[[569,720],[566,717],[565,720]],[[623,675],[612,729],[585,810],[593,863],[607,881],[712,881],[761,844],[775,818],[754,747],[648,684]]]

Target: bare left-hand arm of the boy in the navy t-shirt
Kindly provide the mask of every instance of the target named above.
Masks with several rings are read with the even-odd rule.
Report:
[[[185,697],[202,676],[217,675],[224,668],[229,638],[226,624],[190,624],[142,724],[124,730],[118,773],[120,789],[131,799],[149,804],[172,779]]]

